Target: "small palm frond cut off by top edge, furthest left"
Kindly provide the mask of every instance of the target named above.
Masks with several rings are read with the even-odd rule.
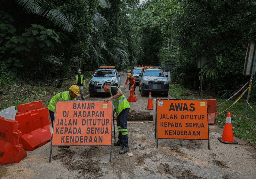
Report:
[[[30,13],[37,13],[41,9],[41,4],[44,0],[15,0],[19,5],[23,6],[24,9]]]

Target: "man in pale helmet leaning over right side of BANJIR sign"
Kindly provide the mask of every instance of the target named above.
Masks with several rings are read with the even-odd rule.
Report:
[[[130,104],[125,98],[122,91],[116,87],[111,86],[110,80],[103,80],[101,88],[104,89],[106,93],[110,93],[110,97],[105,99],[104,102],[113,100],[114,112],[117,113],[117,129],[118,129],[118,141],[114,142],[115,146],[121,146],[119,154],[124,154],[129,151],[128,146],[128,113],[130,111]]]

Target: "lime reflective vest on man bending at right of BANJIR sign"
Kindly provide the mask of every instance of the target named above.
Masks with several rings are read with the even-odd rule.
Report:
[[[111,88],[112,87],[116,87],[116,86],[111,86],[110,87],[110,95],[112,95],[111,93]],[[116,87],[118,90],[120,90],[118,87]],[[121,90],[120,90],[121,91]],[[122,91],[121,91],[122,92]],[[113,105],[114,107],[116,108],[116,113],[119,115],[123,109],[126,109],[126,108],[130,108],[130,104],[129,102],[127,101],[126,97],[124,96],[124,94],[122,93],[122,96],[118,97],[118,98],[115,98],[113,99]]]

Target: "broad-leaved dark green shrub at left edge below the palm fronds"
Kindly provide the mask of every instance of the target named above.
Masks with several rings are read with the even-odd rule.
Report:
[[[25,29],[22,35],[17,35],[16,28],[12,25],[12,16],[0,11],[0,18],[5,22],[0,24],[0,57],[3,64],[12,71],[18,72],[21,70],[29,62],[24,63],[24,59],[33,60],[34,57],[39,55],[40,49],[53,48],[53,41],[61,43],[59,35],[55,33],[54,29],[32,24],[32,27]]]

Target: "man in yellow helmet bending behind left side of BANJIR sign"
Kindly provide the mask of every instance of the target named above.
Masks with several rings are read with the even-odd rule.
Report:
[[[68,100],[76,100],[76,96],[79,96],[79,87],[77,85],[72,85],[69,88],[69,91],[60,92],[54,95],[48,105],[48,110],[50,113],[52,127],[54,122],[54,113],[55,113],[55,105],[56,101],[68,101]],[[68,148],[69,146],[60,145],[58,148]]]

